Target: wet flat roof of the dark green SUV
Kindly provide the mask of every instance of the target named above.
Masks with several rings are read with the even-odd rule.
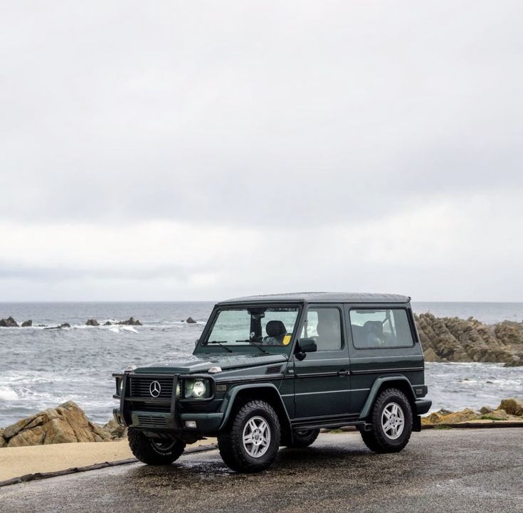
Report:
[[[400,294],[371,294],[362,292],[290,292],[287,294],[266,294],[259,296],[235,297],[221,301],[218,305],[244,302],[309,302],[309,303],[406,303],[411,300]]]

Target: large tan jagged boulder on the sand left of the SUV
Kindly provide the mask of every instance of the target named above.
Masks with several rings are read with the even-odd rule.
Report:
[[[90,422],[73,401],[9,425],[2,436],[7,447],[112,440],[110,433]]]

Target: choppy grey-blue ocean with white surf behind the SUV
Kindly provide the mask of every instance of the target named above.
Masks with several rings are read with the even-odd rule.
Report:
[[[111,374],[128,365],[173,359],[191,353],[213,302],[28,302],[0,303],[0,319],[19,324],[70,329],[0,328],[0,426],[73,400],[90,420],[106,423],[112,415]],[[523,303],[413,302],[416,313],[473,316],[492,324],[521,322]],[[88,327],[129,317],[143,326]],[[193,317],[196,324],[184,319]],[[432,411],[497,406],[505,397],[523,396],[523,368],[500,364],[426,364]]]

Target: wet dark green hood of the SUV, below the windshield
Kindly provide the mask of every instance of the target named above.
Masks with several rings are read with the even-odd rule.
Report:
[[[288,360],[286,354],[216,354],[209,356],[190,354],[174,360],[134,369],[134,374],[199,374],[207,372],[213,366],[222,370],[243,369],[267,364],[278,364]]]

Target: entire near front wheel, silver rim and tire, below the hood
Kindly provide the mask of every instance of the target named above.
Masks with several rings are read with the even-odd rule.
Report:
[[[238,472],[260,472],[268,468],[278,454],[280,421],[273,407],[253,399],[245,403],[229,428],[218,435],[223,462]]]

